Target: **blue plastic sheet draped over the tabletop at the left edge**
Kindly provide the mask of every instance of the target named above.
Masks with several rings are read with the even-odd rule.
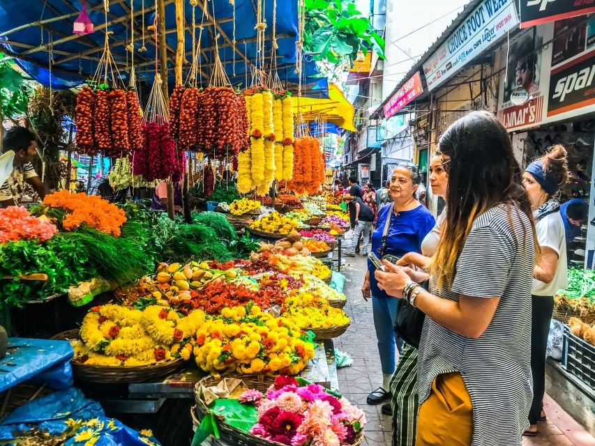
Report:
[[[28,379],[52,389],[66,389],[73,385],[73,356],[68,341],[10,337],[6,357],[0,360],[0,392]]]

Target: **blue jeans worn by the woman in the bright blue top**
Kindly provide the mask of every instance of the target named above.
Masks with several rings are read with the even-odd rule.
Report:
[[[396,337],[393,330],[397,319],[397,303],[397,298],[375,298],[372,296],[372,314],[378,339],[378,353],[380,353],[382,373],[385,375],[395,372],[396,348],[400,351],[402,346],[402,341]]]

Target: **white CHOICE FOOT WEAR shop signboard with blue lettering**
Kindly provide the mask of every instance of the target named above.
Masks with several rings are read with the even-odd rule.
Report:
[[[432,91],[518,25],[514,0],[484,0],[423,64]]]

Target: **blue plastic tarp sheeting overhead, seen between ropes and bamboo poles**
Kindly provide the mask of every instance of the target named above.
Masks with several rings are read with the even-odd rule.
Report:
[[[87,34],[85,36],[78,35],[73,38],[73,21],[77,17],[77,12],[73,11],[73,6],[77,11],[81,10],[80,1],[63,1],[63,0],[47,0],[47,1],[28,1],[27,8],[23,8],[22,1],[0,1],[0,33],[6,33],[12,29],[16,31],[8,32],[6,36],[0,37],[0,39],[8,39],[12,42],[21,43],[27,46],[3,44],[0,47],[6,45],[6,49],[11,54],[22,55],[24,57],[20,66],[29,74],[31,77],[38,80],[38,82],[45,86],[52,85],[53,89],[67,89],[73,84],[80,84],[84,82],[86,77],[91,77],[96,71],[98,64],[98,57],[101,49],[103,49],[105,34],[101,31],[95,31],[94,33]],[[94,5],[101,5],[102,2],[93,2]],[[238,80],[243,80],[245,83],[251,81],[251,66],[244,61],[242,55],[246,55],[250,59],[251,63],[254,63],[254,58],[257,54],[257,43],[255,42],[256,36],[256,13],[253,0],[235,0],[232,5],[229,0],[213,0],[207,3],[211,15],[216,17],[220,22],[220,30],[225,33],[229,40],[236,39],[236,51],[231,46],[219,47],[219,56],[221,61],[224,63],[225,71],[229,76],[232,83],[236,83]],[[121,67],[126,66],[126,62],[130,61],[130,52],[126,51],[126,44],[130,39],[130,20],[119,20],[120,17],[127,15],[127,9],[130,6],[130,1],[126,1],[126,9],[123,5],[118,3],[110,4],[110,13],[107,20],[113,23],[107,27],[113,34],[110,36],[110,49],[112,56],[116,63],[121,63]],[[149,9],[149,2],[142,0],[133,0],[133,6],[135,13],[142,10],[144,6]],[[231,20],[234,15],[235,8],[235,24]],[[95,10],[89,10],[87,12],[96,27],[105,24],[105,13],[103,8],[97,8]],[[271,32],[273,24],[273,0],[264,0],[263,8],[264,18],[268,25],[266,33]],[[184,13],[186,15],[186,23],[192,22],[192,10],[188,5],[186,6]],[[296,54],[296,40],[299,31],[298,17],[297,17],[297,0],[285,0],[277,1],[277,14],[276,14],[276,33],[278,48],[276,49],[278,73],[282,81],[287,77],[295,77],[295,54]],[[27,26],[36,21],[52,19],[61,15],[70,15],[63,20],[57,20],[51,22],[51,29],[56,31],[55,33],[49,33],[48,29],[40,31],[37,26]],[[197,26],[201,22],[202,11],[199,8],[195,9],[195,16],[197,20]],[[144,15],[145,26],[153,24],[155,13],[150,10]],[[115,19],[115,20],[114,20]],[[227,20],[223,20],[227,19]],[[135,20],[140,23],[141,17],[137,15]],[[22,27],[27,26],[27,27]],[[136,25],[138,26],[138,25]],[[165,6],[165,28],[175,29],[176,27],[176,15],[174,3],[169,3]],[[235,36],[234,36],[235,27]],[[140,33],[139,29],[135,29],[136,33]],[[220,34],[219,31],[216,33]],[[196,31],[198,37],[199,31]],[[137,34],[138,36],[138,34]],[[167,33],[166,35],[167,44],[170,47],[176,47],[177,36],[176,33]],[[118,45],[115,43],[119,42]],[[185,51],[186,55],[192,54],[192,39],[189,34],[186,33]],[[51,45],[50,45],[51,44]],[[223,45],[223,38],[219,38],[219,45]],[[142,43],[137,40],[135,47],[135,66],[136,74],[141,79],[146,79],[152,82],[155,70],[153,68],[153,56],[155,54],[155,46],[153,38],[146,38],[144,45],[146,52],[139,52]],[[206,29],[201,34],[201,47],[202,48],[213,48],[215,42],[211,38],[210,33],[206,32]],[[271,39],[267,39],[265,45],[265,52],[270,52],[272,48]],[[52,72],[50,73],[49,68],[50,54],[47,48],[52,46],[54,53],[51,55],[54,61]],[[31,48],[32,47],[32,48]],[[42,48],[41,51],[35,51],[35,49]],[[86,52],[86,54],[85,54]],[[23,54],[24,53],[24,54]],[[80,55],[81,53],[82,56]],[[207,51],[209,54],[209,61],[213,60],[213,52]],[[242,55],[240,55],[241,53]],[[90,58],[89,56],[92,56]],[[202,66],[206,66],[209,61],[204,59],[204,55],[201,55]],[[190,56],[188,56],[190,59]],[[168,68],[174,66],[174,58],[168,58]],[[41,67],[41,68],[40,68]],[[185,71],[189,70],[190,66],[185,67]],[[206,74],[210,73],[209,70]],[[305,61],[303,63],[303,77],[311,77],[317,74],[316,64],[314,61]],[[125,81],[128,81],[127,75],[122,70],[121,75]],[[170,81],[173,80],[173,77]],[[203,84],[209,82],[209,78],[202,79]],[[247,81],[247,82],[246,82]]]

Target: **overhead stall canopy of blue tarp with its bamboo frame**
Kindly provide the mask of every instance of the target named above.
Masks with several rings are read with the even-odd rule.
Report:
[[[260,1],[266,19],[264,60],[270,66],[273,61],[273,0]],[[164,0],[164,3],[167,69],[170,80],[173,81],[178,42],[176,5],[175,0]],[[209,83],[217,49],[232,83],[249,84],[251,72],[257,65],[259,56],[255,30],[258,1],[197,0],[195,8],[190,6],[187,0],[183,0],[182,3],[186,31],[184,55],[188,62],[184,65],[183,79],[186,79],[190,70],[194,32],[195,42],[198,44],[200,41],[199,81],[204,86]],[[153,29],[147,27],[155,20],[156,2],[110,0],[108,4],[109,11],[106,13],[103,1],[86,1],[86,11],[95,25],[95,31],[90,34],[75,34],[73,24],[82,10],[79,1],[30,1],[27,2],[26,8],[20,1],[0,2],[0,40],[4,41],[0,44],[0,51],[14,56],[17,63],[41,84],[52,89],[68,89],[93,76],[103,53],[105,33],[110,32],[112,56],[122,77],[127,81],[132,53],[126,47],[130,45],[133,30],[136,75],[152,80],[156,70],[155,36]],[[281,82],[284,82],[287,77],[296,78],[294,68],[298,33],[297,0],[276,1],[275,32],[278,48],[274,60]],[[141,51],[143,45],[146,51]],[[53,61],[51,66],[50,61]],[[302,77],[312,77],[316,74],[315,63],[303,64]]]

